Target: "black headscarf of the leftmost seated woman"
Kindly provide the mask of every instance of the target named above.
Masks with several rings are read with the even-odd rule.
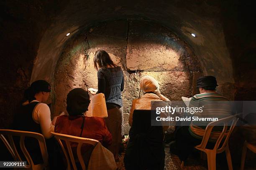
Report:
[[[24,97],[31,102],[36,100],[36,93],[38,92],[51,92],[51,85],[45,80],[36,80],[25,90]]]

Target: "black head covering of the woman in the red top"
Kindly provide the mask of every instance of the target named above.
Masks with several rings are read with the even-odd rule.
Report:
[[[67,112],[69,115],[82,115],[90,104],[90,96],[82,88],[74,88],[67,95]]]

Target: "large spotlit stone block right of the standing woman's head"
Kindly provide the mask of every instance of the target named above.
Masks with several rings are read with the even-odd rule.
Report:
[[[128,70],[183,70],[184,43],[166,28],[153,23],[130,22],[126,63]]]

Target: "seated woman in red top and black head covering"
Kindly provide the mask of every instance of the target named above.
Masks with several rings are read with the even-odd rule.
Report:
[[[67,95],[67,112],[69,115],[61,115],[57,118],[54,131],[66,135],[95,139],[102,143],[104,147],[108,147],[112,142],[112,136],[103,118],[86,116],[89,104],[90,97],[87,91],[82,88],[71,90]],[[71,147],[73,153],[76,153],[77,143],[71,143]],[[88,165],[91,151],[91,146],[82,146],[82,154],[86,165]]]

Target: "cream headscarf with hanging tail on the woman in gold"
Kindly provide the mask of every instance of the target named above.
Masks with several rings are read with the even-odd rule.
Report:
[[[141,90],[143,90],[144,92],[154,92],[160,97],[161,100],[170,101],[168,98],[161,95],[159,90],[159,84],[156,79],[154,79],[154,77],[151,77],[149,75],[141,77],[140,86]]]

